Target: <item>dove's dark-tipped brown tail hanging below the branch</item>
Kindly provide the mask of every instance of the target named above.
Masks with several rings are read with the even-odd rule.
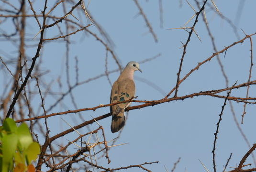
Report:
[[[122,129],[125,123],[124,109],[122,109],[118,114],[112,115],[111,122],[111,132],[115,133]]]

